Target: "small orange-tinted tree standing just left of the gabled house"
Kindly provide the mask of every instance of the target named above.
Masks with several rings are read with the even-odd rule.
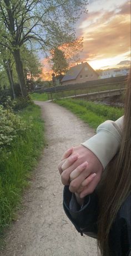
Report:
[[[58,48],[54,49],[51,62],[53,63],[52,69],[57,75],[65,74],[67,72],[69,65],[62,50],[59,50]]]

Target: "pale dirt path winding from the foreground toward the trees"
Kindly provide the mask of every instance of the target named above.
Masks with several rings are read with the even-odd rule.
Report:
[[[63,151],[94,134],[65,108],[36,102],[42,108],[46,140],[31,188],[23,198],[18,220],[8,231],[1,256],[97,256],[96,241],[80,236],[62,208],[61,180],[57,165]]]

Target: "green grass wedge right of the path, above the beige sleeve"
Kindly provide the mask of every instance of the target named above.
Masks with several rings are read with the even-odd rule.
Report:
[[[56,103],[68,108],[68,110],[75,113],[75,115],[80,117],[84,122],[87,122],[94,129],[106,120],[115,121],[123,115],[123,109],[80,99],[58,99]]]

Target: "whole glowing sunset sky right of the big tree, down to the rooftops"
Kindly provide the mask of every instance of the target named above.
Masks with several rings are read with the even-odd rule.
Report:
[[[94,69],[120,68],[130,61],[130,1],[89,0],[88,13],[75,25],[84,37],[81,61]],[[124,61],[124,64],[120,64]],[[45,61],[43,61],[46,64]],[[48,70],[46,64],[44,69]]]

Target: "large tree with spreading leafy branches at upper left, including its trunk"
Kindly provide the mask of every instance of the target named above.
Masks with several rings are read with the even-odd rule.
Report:
[[[26,42],[37,41],[44,51],[74,40],[73,24],[87,0],[1,0],[0,44],[8,48],[16,63],[22,96],[26,96],[20,49]]]

